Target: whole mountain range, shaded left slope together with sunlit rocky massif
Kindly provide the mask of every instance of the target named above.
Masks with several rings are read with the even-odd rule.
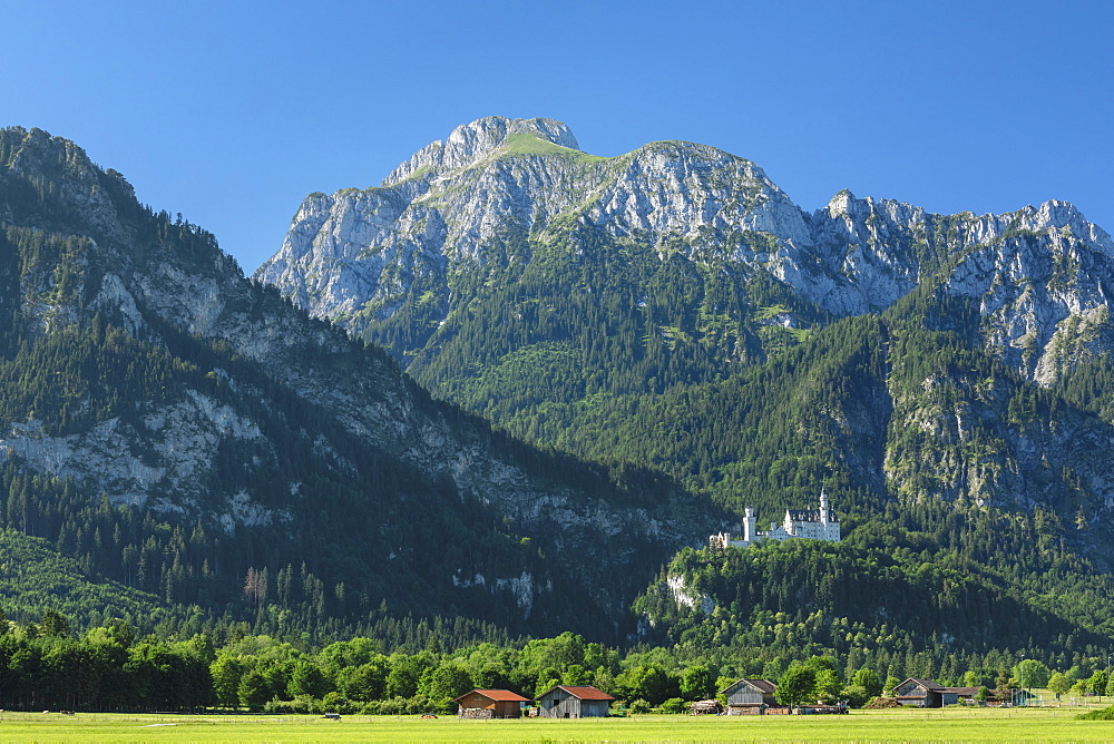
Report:
[[[808,213],[713,147],[489,117],[310,194],[252,278],[39,130],[0,133],[0,223],[2,525],[178,617],[1114,633],[1114,244],[1069,204]],[[836,546],[694,549],[822,489]]]

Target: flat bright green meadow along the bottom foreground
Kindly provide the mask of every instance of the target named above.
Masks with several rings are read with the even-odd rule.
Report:
[[[421,721],[417,716],[0,714],[2,742],[1110,742],[1079,708],[854,711],[846,716]]]

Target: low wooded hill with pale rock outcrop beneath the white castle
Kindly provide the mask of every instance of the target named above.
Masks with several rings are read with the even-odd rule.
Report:
[[[638,599],[646,638],[774,659],[951,669],[1001,650],[1071,665],[1114,625],[1110,575],[1063,550],[1055,517],[891,506],[838,544],[685,549]],[[906,666],[908,668],[908,666]]]

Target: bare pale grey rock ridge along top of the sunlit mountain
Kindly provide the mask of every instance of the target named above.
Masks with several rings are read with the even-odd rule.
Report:
[[[453,274],[482,265],[508,232],[544,242],[570,224],[655,246],[663,258],[681,251],[768,274],[833,316],[878,312],[942,282],[978,306],[986,347],[1043,383],[1114,340],[1104,284],[1114,243],[1067,203],[935,215],[842,192],[809,214],[759,166],[716,148],[652,143],[599,158],[550,119],[479,119],[378,188],[306,197],[255,276],[356,333],[419,288],[440,323],[466,300]]]

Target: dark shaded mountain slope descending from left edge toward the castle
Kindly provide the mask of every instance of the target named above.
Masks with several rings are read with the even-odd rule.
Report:
[[[0,223],[4,523],[107,575],[271,627],[614,628],[707,529],[656,473],[432,401],[72,143],[0,131]]]

